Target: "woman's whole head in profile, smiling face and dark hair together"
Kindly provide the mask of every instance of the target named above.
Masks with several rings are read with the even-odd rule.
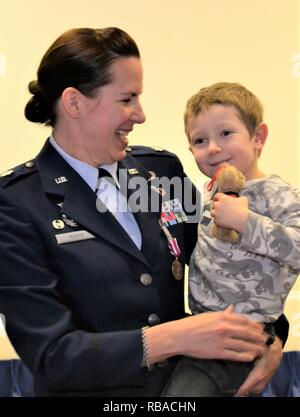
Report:
[[[93,166],[124,158],[126,134],[145,120],[139,51],[116,28],[61,35],[44,55],[29,91],[27,119],[52,126],[66,152]]]

